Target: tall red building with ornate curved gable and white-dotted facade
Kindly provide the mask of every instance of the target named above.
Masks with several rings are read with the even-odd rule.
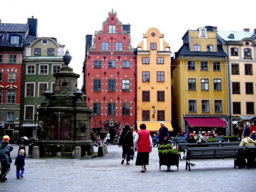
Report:
[[[101,129],[109,131],[113,140],[126,123],[134,127],[136,121],[136,56],[130,25],[123,25],[112,10],[102,29],[86,38],[84,93],[93,112],[92,129],[97,135]]]

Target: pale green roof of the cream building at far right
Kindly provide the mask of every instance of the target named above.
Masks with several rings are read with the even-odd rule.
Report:
[[[253,33],[245,31],[217,31],[217,34],[225,41],[240,41],[245,38],[251,38],[253,35]],[[231,39],[230,34],[233,34],[234,38]]]

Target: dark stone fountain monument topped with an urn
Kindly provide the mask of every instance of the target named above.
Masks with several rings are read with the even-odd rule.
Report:
[[[82,91],[77,89],[80,75],[69,67],[71,56],[63,56],[64,67],[54,74],[54,92],[45,91],[46,99],[38,111],[38,140],[40,157],[70,156],[76,146],[81,147],[81,156],[90,155],[93,142],[90,139],[92,111],[82,100]],[[86,98],[86,97],[85,97]]]

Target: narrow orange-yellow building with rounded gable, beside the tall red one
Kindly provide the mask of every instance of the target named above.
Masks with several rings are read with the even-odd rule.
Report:
[[[137,128],[145,123],[148,131],[159,130],[159,122],[172,131],[171,51],[164,34],[148,29],[137,47]]]

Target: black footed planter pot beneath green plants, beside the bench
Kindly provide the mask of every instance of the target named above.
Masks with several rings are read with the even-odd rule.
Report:
[[[159,156],[159,170],[161,170],[162,165],[167,166],[167,171],[171,169],[172,165],[177,166],[177,171],[179,171],[179,157],[178,154],[173,153],[158,153]]]

